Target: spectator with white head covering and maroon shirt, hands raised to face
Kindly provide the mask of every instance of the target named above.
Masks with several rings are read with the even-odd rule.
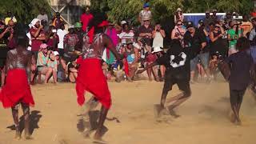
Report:
[[[37,59],[38,50],[44,40],[46,40],[46,35],[43,30],[43,26],[40,25],[40,19],[34,18],[30,23],[30,35],[32,40],[31,51]]]

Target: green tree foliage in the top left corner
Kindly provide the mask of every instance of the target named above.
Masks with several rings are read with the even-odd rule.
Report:
[[[41,9],[46,10],[46,14],[50,16],[48,0],[0,0],[0,16],[6,17],[7,11],[10,10],[18,22],[22,23],[30,23]]]

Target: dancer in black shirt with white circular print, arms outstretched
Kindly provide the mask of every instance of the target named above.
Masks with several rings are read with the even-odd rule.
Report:
[[[143,70],[138,70],[138,74],[141,74],[146,69],[156,65],[166,66],[166,77],[164,86],[162,89],[162,98],[160,106],[156,106],[157,116],[164,110],[166,103],[166,96],[174,84],[178,85],[179,90],[182,90],[182,94],[170,98],[167,102],[174,102],[168,106],[168,110],[171,115],[178,116],[174,113],[174,108],[185,102],[190,98],[190,60],[194,58],[199,52],[199,46],[190,46],[182,48],[178,39],[174,39],[171,43],[170,49],[162,57],[158,58],[155,62],[146,66]]]

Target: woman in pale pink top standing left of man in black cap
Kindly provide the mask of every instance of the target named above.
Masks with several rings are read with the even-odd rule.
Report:
[[[171,31],[171,39],[178,39],[181,44],[182,47],[184,47],[184,34],[186,33],[186,29],[184,29],[183,27],[183,23],[182,21],[177,21],[176,26],[174,27],[174,29]]]

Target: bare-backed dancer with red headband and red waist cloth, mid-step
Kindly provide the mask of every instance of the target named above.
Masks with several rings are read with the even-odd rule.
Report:
[[[102,109],[98,120],[98,128],[94,139],[101,140],[103,123],[106,120],[106,114],[111,106],[110,90],[107,86],[106,78],[102,72],[102,53],[105,47],[110,49],[118,60],[121,55],[115,50],[110,37],[103,34],[101,17],[95,15],[92,20],[92,28],[88,36],[83,38],[82,62],[78,69],[78,78],[76,81],[76,91],[78,95],[78,104],[80,106],[85,102],[85,91],[94,94],[94,98],[102,103]],[[92,41],[93,40],[93,41]],[[81,60],[81,59],[80,59]]]

